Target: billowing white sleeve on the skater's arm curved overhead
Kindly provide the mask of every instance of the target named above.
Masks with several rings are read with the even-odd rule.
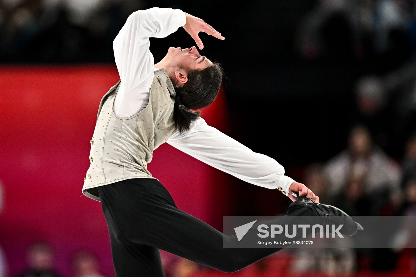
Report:
[[[154,58],[150,37],[167,37],[185,25],[181,10],[153,7],[133,12],[113,41],[114,58],[121,84],[114,99],[114,113],[121,117],[136,114],[149,102],[154,78]]]

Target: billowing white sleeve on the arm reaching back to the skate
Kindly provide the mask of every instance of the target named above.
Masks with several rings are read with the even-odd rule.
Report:
[[[264,188],[281,188],[288,195],[295,180],[275,159],[256,153],[235,139],[209,126],[199,117],[183,134],[175,131],[166,141],[171,146],[243,181]]]

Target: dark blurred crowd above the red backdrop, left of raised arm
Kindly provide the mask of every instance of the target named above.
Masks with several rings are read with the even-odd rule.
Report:
[[[0,62],[109,62],[112,41],[143,1],[1,0]]]

